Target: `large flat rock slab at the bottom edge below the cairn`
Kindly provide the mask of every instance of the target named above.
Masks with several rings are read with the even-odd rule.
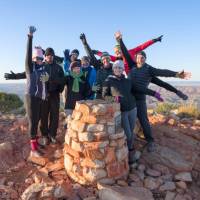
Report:
[[[153,200],[150,190],[143,187],[104,187],[99,191],[100,200]]]

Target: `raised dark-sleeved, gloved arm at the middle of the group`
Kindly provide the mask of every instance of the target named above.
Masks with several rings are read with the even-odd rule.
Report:
[[[86,51],[87,56],[90,58],[90,64],[93,65],[95,68],[99,69],[101,64],[100,62],[97,60],[97,58],[95,57],[94,53],[92,52],[92,49],[90,48],[89,44],[87,43],[85,34],[82,33],[80,35],[80,39],[83,43],[84,49]]]

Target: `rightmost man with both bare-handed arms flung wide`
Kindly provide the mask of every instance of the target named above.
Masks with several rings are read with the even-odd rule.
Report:
[[[187,79],[191,76],[190,73],[174,72],[165,69],[157,69],[146,63],[146,54],[142,51],[136,54],[136,62],[131,58],[126,46],[122,41],[122,35],[120,32],[115,34],[117,41],[120,44],[123,56],[125,57],[128,66],[132,68],[129,73],[129,78],[132,81],[132,84],[135,87],[147,88],[151,82],[152,77],[154,76],[163,76],[163,77],[177,77],[182,79]],[[140,121],[140,124],[143,128],[145,139],[147,140],[147,150],[152,152],[155,150],[154,138],[152,136],[151,127],[149,124],[147,116],[147,105],[146,105],[146,95],[136,94],[136,105],[137,105],[137,116]]]

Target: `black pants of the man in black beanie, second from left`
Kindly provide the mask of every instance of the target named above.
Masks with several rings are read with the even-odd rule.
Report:
[[[51,93],[42,102],[40,130],[43,136],[55,137],[59,121],[60,94]]]

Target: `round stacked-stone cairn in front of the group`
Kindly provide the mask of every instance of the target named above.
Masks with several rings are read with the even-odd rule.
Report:
[[[67,124],[64,165],[74,181],[114,184],[127,178],[128,148],[119,104],[79,101]]]

